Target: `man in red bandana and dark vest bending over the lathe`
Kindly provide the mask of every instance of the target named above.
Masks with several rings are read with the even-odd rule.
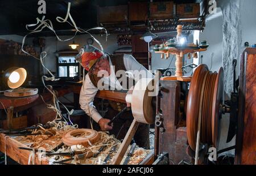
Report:
[[[79,61],[86,71],[88,71],[80,92],[79,102],[81,109],[98,123],[102,131],[109,131],[110,135],[114,134],[115,136],[118,136],[118,139],[125,138],[131,122],[133,121],[133,114],[131,111],[123,113],[122,116],[110,126],[108,123],[113,117],[108,117],[110,119],[102,118],[101,114],[98,113],[93,105],[94,97],[98,90],[103,89],[102,86],[104,86],[104,88],[108,87],[110,90],[115,89],[115,91],[131,93],[133,86],[136,81],[138,81],[138,79],[134,80],[135,78],[154,79],[154,75],[138,63],[132,55],[106,54],[92,45],[83,46],[76,56],[76,60]],[[118,71],[123,71],[123,74],[117,74]],[[105,72],[105,74],[101,74],[101,72]],[[134,75],[139,74],[139,72],[144,72],[144,74]],[[129,73],[132,74],[129,76]],[[127,83],[124,83],[126,81],[119,82],[119,76],[123,75],[126,76],[125,80]],[[130,85],[130,83],[132,83],[132,85]],[[128,87],[125,87],[124,85]],[[114,102],[114,104],[118,105],[118,109],[115,109],[117,110],[115,111],[115,114],[118,114],[118,111],[122,110],[121,107],[131,106],[129,103],[122,104],[120,102]],[[149,130],[149,125],[142,123],[139,125],[138,130],[134,135],[134,141],[139,147],[149,149]]]

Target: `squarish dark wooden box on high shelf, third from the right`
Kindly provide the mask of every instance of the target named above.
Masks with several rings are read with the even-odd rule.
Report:
[[[147,2],[130,2],[129,3],[129,20],[130,22],[145,22],[148,15]]]

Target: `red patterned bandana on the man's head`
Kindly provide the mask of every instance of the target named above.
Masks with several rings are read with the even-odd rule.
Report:
[[[76,56],[76,60],[80,62],[85,70],[89,71],[90,68],[96,63],[97,59],[103,55],[102,51],[98,50],[92,45],[85,45]]]

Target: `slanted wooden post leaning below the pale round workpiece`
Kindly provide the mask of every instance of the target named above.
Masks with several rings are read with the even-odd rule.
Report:
[[[133,139],[133,136],[135,135],[135,132],[137,131],[138,127],[139,122],[137,122],[134,119],[133,123],[131,123],[129,130],[127,131],[125,139],[123,139],[123,142],[120,148],[118,149],[117,154],[114,157],[114,160],[112,162],[113,165],[119,165],[121,163],[122,158],[123,156],[125,156],[125,152],[127,151],[127,148],[129,147],[131,140]]]

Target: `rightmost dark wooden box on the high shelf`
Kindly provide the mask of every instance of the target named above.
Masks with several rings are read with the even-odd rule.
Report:
[[[200,3],[187,3],[176,5],[177,18],[199,18]]]

